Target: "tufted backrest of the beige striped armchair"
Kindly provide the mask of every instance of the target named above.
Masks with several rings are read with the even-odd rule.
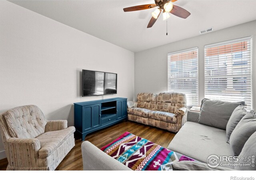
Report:
[[[46,119],[34,105],[20,106],[4,113],[9,132],[14,138],[36,138],[44,133]]]

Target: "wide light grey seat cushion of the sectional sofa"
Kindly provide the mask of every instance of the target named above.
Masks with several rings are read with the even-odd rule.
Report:
[[[196,122],[186,122],[174,136],[168,149],[205,163],[212,154],[233,156],[230,145],[226,142],[225,130]],[[234,169],[231,166],[227,168]]]

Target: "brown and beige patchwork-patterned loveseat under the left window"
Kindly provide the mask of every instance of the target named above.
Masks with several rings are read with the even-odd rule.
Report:
[[[139,93],[128,101],[128,120],[178,132],[185,118],[186,95],[177,92]]]

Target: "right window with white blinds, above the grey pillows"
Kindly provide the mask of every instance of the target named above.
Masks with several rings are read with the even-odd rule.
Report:
[[[204,47],[205,98],[252,108],[251,37]]]

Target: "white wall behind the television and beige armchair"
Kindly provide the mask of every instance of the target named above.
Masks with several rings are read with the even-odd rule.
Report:
[[[104,30],[102,30],[104,33]],[[74,125],[82,69],[118,74],[118,94],[134,98],[134,53],[7,1],[0,1],[0,113],[36,104],[49,120]],[[0,159],[4,158],[0,140]]]

